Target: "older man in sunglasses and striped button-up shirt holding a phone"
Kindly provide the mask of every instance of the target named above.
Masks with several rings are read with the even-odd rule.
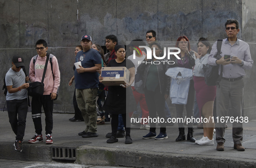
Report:
[[[208,57],[208,64],[217,66],[223,65],[223,76],[220,81],[220,86],[217,86],[217,123],[216,123],[216,141],[217,151],[224,151],[224,133],[225,122],[221,122],[221,117],[227,119],[227,111],[229,102],[231,102],[233,121],[233,142],[234,149],[244,151],[242,146],[243,141],[243,76],[245,76],[245,69],[251,69],[253,60],[251,59],[249,45],[238,39],[237,34],[240,31],[239,22],[236,19],[227,19],[225,24],[227,38],[222,41],[221,58],[217,60],[214,56],[217,54],[217,41],[214,43],[211,54]],[[231,56],[224,59],[224,55]],[[219,66],[219,74],[220,74]],[[228,117],[228,116],[227,116]],[[230,120],[231,121],[231,120]]]

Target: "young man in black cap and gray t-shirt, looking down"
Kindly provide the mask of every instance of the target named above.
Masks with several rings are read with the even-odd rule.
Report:
[[[12,67],[6,73],[5,83],[7,87],[6,105],[9,116],[9,122],[16,134],[14,143],[15,150],[23,150],[23,136],[26,127],[26,116],[28,112],[27,90],[29,87],[29,77],[26,77],[22,67],[25,66],[23,57],[13,56]],[[18,114],[18,118],[17,118]]]

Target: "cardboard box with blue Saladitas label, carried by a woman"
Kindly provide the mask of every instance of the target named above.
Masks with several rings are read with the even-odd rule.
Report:
[[[101,76],[105,86],[120,86],[129,83],[130,71],[126,67],[102,67]]]

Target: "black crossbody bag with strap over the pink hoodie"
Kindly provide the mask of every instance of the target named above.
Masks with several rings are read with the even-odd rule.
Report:
[[[47,57],[47,55],[46,55]],[[42,81],[41,82],[32,82],[29,83],[29,87],[28,87],[28,95],[29,96],[41,96],[44,94],[44,79],[45,79],[45,73],[46,73],[46,69],[47,69],[47,65],[48,65],[48,61],[49,61],[49,56],[46,58],[46,62],[45,62],[45,68],[44,68],[44,73],[42,76]]]

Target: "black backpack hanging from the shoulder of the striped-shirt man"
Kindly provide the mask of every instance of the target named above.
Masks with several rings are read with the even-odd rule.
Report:
[[[222,45],[222,39],[218,39],[217,41],[217,54],[214,56],[217,60],[221,58],[221,45]],[[206,85],[208,86],[216,86],[219,85],[220,87],[220,81],[222,79],[222,72],[223,72],[223,65],[220,65],[220,75],[219,75],[219,65],[213,66],[213,65],[203,65],[204,70],[204,81]]]

